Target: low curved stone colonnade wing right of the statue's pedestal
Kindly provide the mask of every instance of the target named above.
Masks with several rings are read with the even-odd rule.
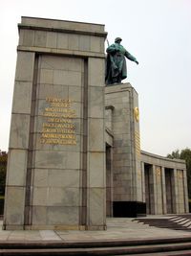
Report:
[[[185,161],[145,151],[141,151],[141,161],[147,214],[188,213]]]

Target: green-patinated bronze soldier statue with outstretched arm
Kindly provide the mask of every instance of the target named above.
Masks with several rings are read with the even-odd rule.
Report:
[[[115,39],[115,43],[110,45],[106,50],[106,84],[121,83],[122,80],[127,78],[125,57],[135,61],[138,64],[138,60],[128,53],[127,50],[120,44],[121,41],[122,39],[117,37]]]

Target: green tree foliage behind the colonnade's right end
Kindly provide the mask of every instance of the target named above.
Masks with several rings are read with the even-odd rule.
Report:
[[[177,158],[185,160],[188,182],[188,197],[191,198],[191,150],[186,148],[182,151],[172,151],[172,153],[167,154],[167,157],[171,159]]]

